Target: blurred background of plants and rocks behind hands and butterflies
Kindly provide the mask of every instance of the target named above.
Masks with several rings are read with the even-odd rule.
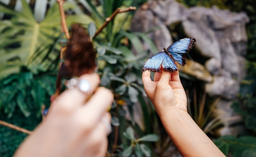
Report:
[[[181,157],[143,89],[145,61],[194,37],[179,66],[188,112],[227,157],[256,157],[255,0],[65,0],[67,27],[92,37],[101,85],[115,95],[111,157]],[[55,93],[61,32],[56,0],[0,0],[0,120],[32,131]],[[161,47],[161,46],[163,47]],[[152,75],[153,76],[153,75]],[[0,125],[0,156],[11,157],[27,134]]]

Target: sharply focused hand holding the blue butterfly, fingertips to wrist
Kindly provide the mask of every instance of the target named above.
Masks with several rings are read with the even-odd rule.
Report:
[[[156,72],[154,81],[150,72],[142,74],[142,81],[146,95],[153,103],[158,115],[171,109],[180,109],[187,112],[187,97],[179,78],[179,72]]]

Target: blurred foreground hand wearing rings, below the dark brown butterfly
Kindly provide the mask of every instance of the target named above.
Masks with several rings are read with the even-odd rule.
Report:
[[[98,87],[98,74],[85,74],[91,96],[78,88],[64,91],[51,105],[45,121],[18,148],[17,157],[104,157],[107,152],[106,111],[113,94]],[[90,97],[91,96],[91,97]],[[90,99],[88,100],[88,98]],[[87,102],[86,102],[87,101]]]

